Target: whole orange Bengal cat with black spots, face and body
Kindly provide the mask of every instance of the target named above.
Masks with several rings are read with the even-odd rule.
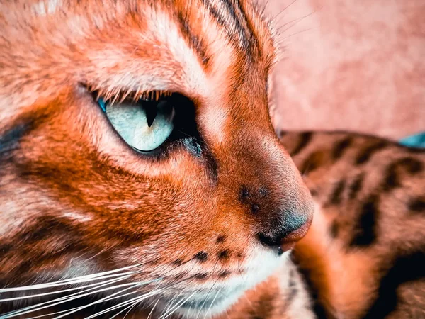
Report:
[[[280,141],[249,2],[4,0],[0,29],[0,318],[425,318],[424,152]]]

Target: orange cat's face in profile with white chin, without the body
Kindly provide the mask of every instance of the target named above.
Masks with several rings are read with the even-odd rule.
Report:
[[[0,6],[2,285],[112,271],[191,315],[283,262],[312,201],[271,126],[275,48],[249,4]]]

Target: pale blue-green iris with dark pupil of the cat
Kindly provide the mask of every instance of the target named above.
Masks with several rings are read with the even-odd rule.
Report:
[[[102,98],[98,105],[128,145],[142,152],[161,146],[174,130],[175,110],[167,99],[139,99],[108,103]]]

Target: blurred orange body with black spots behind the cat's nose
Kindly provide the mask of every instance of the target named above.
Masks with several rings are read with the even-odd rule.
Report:
[[[295,261],[318,318],[425,318],[425,150],[353,133],[279,135],[316,203]]]

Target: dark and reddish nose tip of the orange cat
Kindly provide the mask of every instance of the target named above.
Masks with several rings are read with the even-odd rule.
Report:
[[[288,218],[280,222],[280,225],[257,234],[263,246],[276,250],[278,254],[291,250],[295,243],[307,234],[312,222],[308,216],[288,215]]]

